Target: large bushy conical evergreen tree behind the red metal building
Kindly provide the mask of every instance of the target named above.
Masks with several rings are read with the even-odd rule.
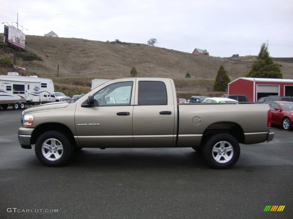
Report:
[[[250,71],[245,76],[251,78],[283,78],[280,66],[270,57],[268,46],[265,43],[261,45],[257,60],[253,61]]]

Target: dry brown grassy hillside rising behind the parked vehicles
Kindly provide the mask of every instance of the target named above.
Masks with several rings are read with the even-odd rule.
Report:
[[[3,36],[0,36],[1,38]],[[190,48],[192,51],[194,48]],[[25,61],[17,58],[16,65],[25,67],[20,75],[37,75],[51,78],[55,91],[72,96],[90,90],[92,78],[115,79],[130,77],[132,67],[138,77],[173,78],[180,97],[191,94],[213,93],[213,84],[220,65],[223,65],[232,80],[244,77],[256,57],[219,58],[192,55],[146,44],[114,43],[76,38],[26,36],[25,50],[18,56],[35,54],[41,60]],[[9,49],[0,50],[0,58],[13,55]],[[274,58],[280,65],[283,78],[292,78],[293,58]],[[56,67],[59,64],[59,77]],[[6,65],[0,66],[0,75],[15,71]],[[191,75],[185,79],[186,72]],[[213,93],[211,95],[221,95]]]

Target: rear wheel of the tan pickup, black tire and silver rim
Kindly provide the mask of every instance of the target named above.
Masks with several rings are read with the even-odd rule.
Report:
[[[239,159],[238,141],[230,134],[213,135],[205,144],[203,154],[207,163],[216,169],[227,169]]]

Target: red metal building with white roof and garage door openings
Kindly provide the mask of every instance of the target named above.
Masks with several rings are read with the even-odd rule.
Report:
[[[228,84],[228,94],[246,95],[249,102],[266,96],[293,96],[292,79],[238,78]]]

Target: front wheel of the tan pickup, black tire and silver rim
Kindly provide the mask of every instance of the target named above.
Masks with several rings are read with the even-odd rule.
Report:
[[[43,133],[35,144],[35,154],[39,161],[46,166],[64,165],[70,158],[71,152],[69,138],[57,131]]]

